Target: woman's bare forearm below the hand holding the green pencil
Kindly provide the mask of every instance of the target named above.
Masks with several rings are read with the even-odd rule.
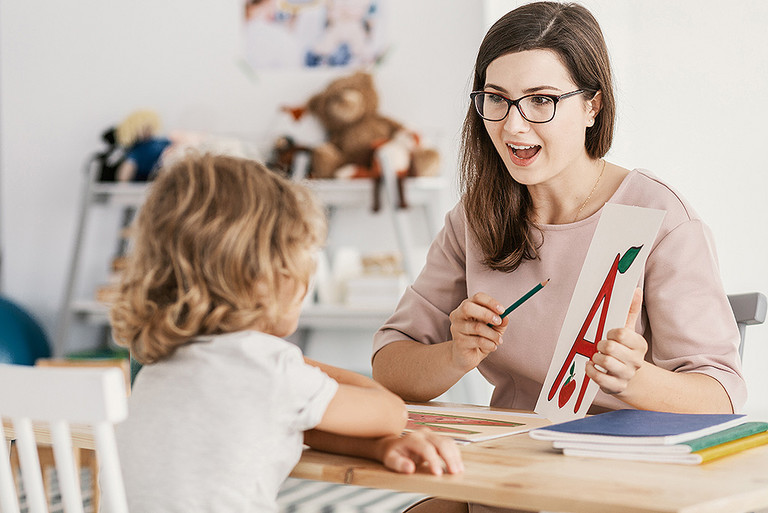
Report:
[[[431,401],[466,372],[453,365],[450,341],[432,345],[392,342],[373,358],[373,378],[405,401]]]

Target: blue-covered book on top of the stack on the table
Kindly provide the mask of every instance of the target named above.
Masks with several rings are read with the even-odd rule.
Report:
[[[746,422],[741,414],[616,410],[532,430],[531,438],[625,445],[670,445]]]

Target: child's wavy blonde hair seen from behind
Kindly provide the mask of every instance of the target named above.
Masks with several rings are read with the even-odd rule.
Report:
[[[280,286],[308,286],[325,215],[305,187],[245,159],[192,155],[152,184],[110,311],[140,363],[200,335],[276,325]]]

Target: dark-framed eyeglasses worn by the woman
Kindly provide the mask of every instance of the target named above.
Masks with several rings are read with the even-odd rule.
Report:
[[[583,89],[578,89],[561,95],[528,94],[517,100],[510,100],[497,93],[473,91],[469,94],[469,97],[475,104],[477,113],[486,121],[501,121],[507,117],[509,109],[514,105],[526,121],[531,123],[548,123],[555,117],[557,102],[583,92]]]

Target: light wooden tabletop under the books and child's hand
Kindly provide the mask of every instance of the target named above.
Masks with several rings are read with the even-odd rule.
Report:
[[[461,447],[461,475],[403,475],[305,450],[291,476],[529,511],[727,513],[768,508],[768,446],[703,465],[564,456],[527,434]]]

